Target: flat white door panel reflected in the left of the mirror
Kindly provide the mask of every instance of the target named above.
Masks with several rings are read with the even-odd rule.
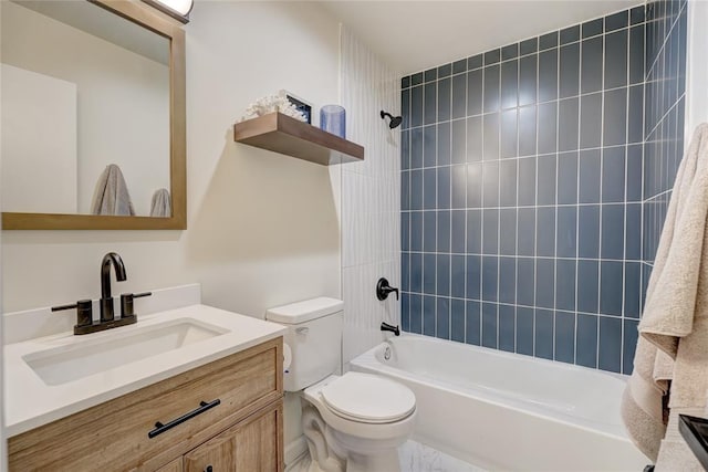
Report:
[[[3,210],[79,212],[76,84],[4,63],[0,74]]]

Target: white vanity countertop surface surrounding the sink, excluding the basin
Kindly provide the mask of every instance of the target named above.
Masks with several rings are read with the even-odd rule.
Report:
[[[196,318],[219,326],[226,333],[149,356],[142,360],[93,374],[61,385],[49,386],[23,360],[23,356],[102,337],[127,336],[136,329],[179,318]],[[73,415],[150,384],[238,353],[281,336],[285,328],[251,316],[206,305],[191,305],[153,315],[138,316],[134,325],[75,336],[72,332],[29,339],[4,346],[4,420],[12,437]]]

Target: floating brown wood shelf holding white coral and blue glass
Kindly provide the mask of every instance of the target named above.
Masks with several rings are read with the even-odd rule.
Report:
[[[233,140],[323,166],[364,160],[364,148],[281,113],[233,125]]]

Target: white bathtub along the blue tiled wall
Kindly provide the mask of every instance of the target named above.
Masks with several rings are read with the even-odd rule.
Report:
[[[624,431],[620,375],[407,334],[351,366],[410,387],[414,439],[485,469],[642,471],[649,463]]]

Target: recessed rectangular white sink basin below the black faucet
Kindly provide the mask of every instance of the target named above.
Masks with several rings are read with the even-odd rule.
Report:
[[[195,318],[136,326],[129,333],[122,329],[125,328],[105,332],[101,338],[87,337],[71,345],[27,354],[22,360],[45,385],[56,386],[229,332]]]

